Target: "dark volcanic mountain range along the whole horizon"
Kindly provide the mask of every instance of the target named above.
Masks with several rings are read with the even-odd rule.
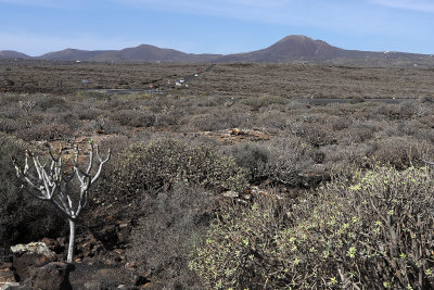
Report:
[[[90,62],[270,62],[330,63],[354,65],[434,65],[434,56],[404,52],[345,50],[303,35],[288,36],[272,46],[235,54],[193,54],[149,45],[123,50],[65,49],[31,58],[16,51],[0,51],[0,59],[36,59]]]

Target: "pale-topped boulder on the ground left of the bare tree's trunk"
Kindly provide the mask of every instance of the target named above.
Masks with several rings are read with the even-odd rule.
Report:
[[[11,247],[13,252],[12,266],[20,280],[25,280],[30,269],[41,267],[58,260],[56,254],[48,249],[43,242],[30,242]]]

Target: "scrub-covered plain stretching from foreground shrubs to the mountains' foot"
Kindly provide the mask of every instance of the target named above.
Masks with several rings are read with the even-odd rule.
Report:
[[[155,289],[434,288],[432,70],[217,64],[175,88],[203,65],[76,65],[4,71],[2,251],[67,229],[11,156],[92,139],[113,159],[77,228],[86,266]]]

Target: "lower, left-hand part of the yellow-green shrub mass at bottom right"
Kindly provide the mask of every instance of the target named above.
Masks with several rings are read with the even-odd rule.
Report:
[[[279,288],[272,279],[281,270],[275,236],[283,215],[276,207],[265,198],[251,209],[234,205],[213,222],[189,263],[207,289]]]

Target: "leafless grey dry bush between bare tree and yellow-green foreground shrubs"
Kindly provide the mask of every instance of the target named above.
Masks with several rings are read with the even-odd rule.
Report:
[[[175,285],[201,289],[188,262],[192,245],[203,239],[209,226],[212,196],[201,187],[183,184],[141,196],[142,215],[131,232],[127,257],[161,280],[159,289],[174,289]]]

